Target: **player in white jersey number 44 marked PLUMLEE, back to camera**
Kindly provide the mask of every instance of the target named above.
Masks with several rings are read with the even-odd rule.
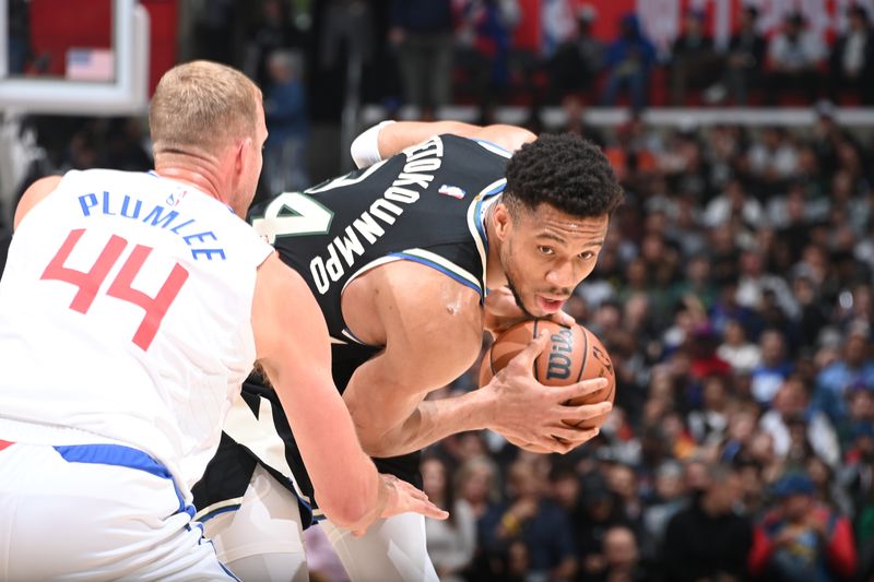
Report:
[[[332,520],[444,518],[380,476],[306,283],[241,219],[260,91],[204,61],[161,80],[152,173],[32,185],[0,282],[0,580],[222,580],[190,487],[258,360]],[[291,578],[290,573],[290,578]]]

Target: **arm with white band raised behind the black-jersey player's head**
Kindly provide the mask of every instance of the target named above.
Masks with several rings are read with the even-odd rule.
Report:
[[[485,140],[508,152],[515,152],[536,139],[536,135],[517,126],[483,127],[461,121],[383,121],[365,130],[352,142],[352,158],[357,167],[363,168],[442,133]]]

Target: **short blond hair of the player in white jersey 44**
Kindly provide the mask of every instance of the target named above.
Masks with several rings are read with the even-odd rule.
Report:
[[[211,61],[174,67],[149,106],[155,155],[218,153],[255,138],[261,91],[241,72]]]

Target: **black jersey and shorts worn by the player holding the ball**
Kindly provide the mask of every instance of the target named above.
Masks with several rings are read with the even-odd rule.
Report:
[[[363,344],[343,321],[341,295],[355,277],[391,261],[415,261],[485,295],[488,242],[483,204],[504,190],[509,157],[487,142],[435,136],[368,168],[304,192],[279,194],[251,210],[252,226],[304,277],[321,307],[333,344],[334,382],[341,392],[355,368],[382,348]],[[265,459],[268,454],[247,442],[245,433],[232,431],[231,421],[223,449],[236,441],[269,465],[274,476],[291,470],[298,496],[311,502],[312,487],[275,392],[250,379],[244,385],[244,399],[256,417],[274,421],[287,465]],[[271,418],[259,418],[262,427]],[[224,453],[220,450],[213,464],[223,456],[233,460],[233,454]],[[380,472],[421,486],[418,453],[375,462]],[[222,479],[226,489],[227,476]],[[196,488],[196,496],[204,497],[203,489]],[[240,496],[243,491],[245,485]],[[217,500],[214,495],[205,498],[199,509]]]

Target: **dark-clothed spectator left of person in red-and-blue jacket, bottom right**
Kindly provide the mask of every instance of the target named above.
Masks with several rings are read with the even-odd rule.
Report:
[[[752,524],[735,512],[741,477],[724,465],[707,467],[706,475],[690,507],[668,524],[661,554],[666,580],[742,580],[746,574]]]

